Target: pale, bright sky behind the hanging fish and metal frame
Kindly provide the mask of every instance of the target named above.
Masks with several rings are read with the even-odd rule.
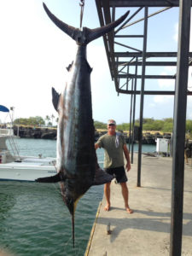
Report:
[[[67,24],[79,27],[78,0],[44,0],[49,10]],[[6,0],[0,2],[0,104],[15,107],[15,118],[57,113],[51,102],[51,87],[61,92],[67,80],[66,68],[74,59],[75,42],[53,24],[40,0]],[[116,18],[127,9],[119,9]],[[149,14],[156,9],[149,9]],[[134,10],[131,9],[131,14]],[[137,16],[137,19],[140,16]],[[148,51],[177,51],[178,9],[170,9],[148,20]],[[95,1],[85,1],[83,26],[99,26]],[[142,31],[140,24],[127,32]],[[130,40],[130,45],[137,41]],[[138,44],[139,47],[139,44]],[[88,45],[88,61],[93,67],[91,90],[93,118],[102,122],[116,119],[129,122],[131,96],[119,95],[108,69],[102,38]],[[172,74],[173,67],[147,69],[146,73]],[[189,72],[190,73],[190,72]],[[191,78],[191,75],[189,75]],[[170,80],[146,80],[146,89],[172,89]],[[190,81],[189,81],[189,84]],[[192,119],[192,100],[188,98],[187,118]],[[145,96],[143,116],[154,119],[172,117],[173,96]],[[136,118],[139,117],[137,96]],[[0,115],[0,119],[3,118]]]

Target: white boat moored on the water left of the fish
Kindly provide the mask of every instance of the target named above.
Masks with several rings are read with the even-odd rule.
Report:
[[[0,106],[1,107],[1,106]],[[11,152],[7,147],[9,142]],[[35,181],[56,174],[55,158],[20,156],[13,129],[0,128],[0,181]]]

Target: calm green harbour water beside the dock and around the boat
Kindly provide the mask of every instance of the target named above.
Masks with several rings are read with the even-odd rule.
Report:
[[[55,157],[55,141],[19,139],[17,143],[20,155]],[[143,145],[143,152],[154,150],[155,146]],[[103,160],[102,149],[97,156]],[[1,182],[0,249],[15,256],[84,255],[102,194],[103,186],[95,186],[79,201],[73,248],[71,216],[58,184]]]

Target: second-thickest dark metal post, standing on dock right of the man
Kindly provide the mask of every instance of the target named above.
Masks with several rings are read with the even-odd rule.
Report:
[[[139,144],[138,144],[138,165],[137,165],[137,187],[141,187],[141,167],[142,167],[142,135],[143,135],[143,102],[144,102],[144,84],[145,84],[145,62],[147,49],[148,32],[148,7],[144,10],[144,35],[143,35],[143,66],[142,66],[142,88],[140,99],[140,120],[139,120]]]

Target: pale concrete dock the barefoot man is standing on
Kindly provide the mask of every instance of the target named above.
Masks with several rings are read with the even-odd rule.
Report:
[[[125,212],[119,184],[111,184],[111,210],[103,198],[96,213],[84,256],[169,255],[171,230],[172,158],[142,158],[141,188],[137,188],[137,155],[127,177],[129,205]],[[110,224],[111,235],[107,234]],[[192,165],[185,164],[182,255],[192,255]]]

